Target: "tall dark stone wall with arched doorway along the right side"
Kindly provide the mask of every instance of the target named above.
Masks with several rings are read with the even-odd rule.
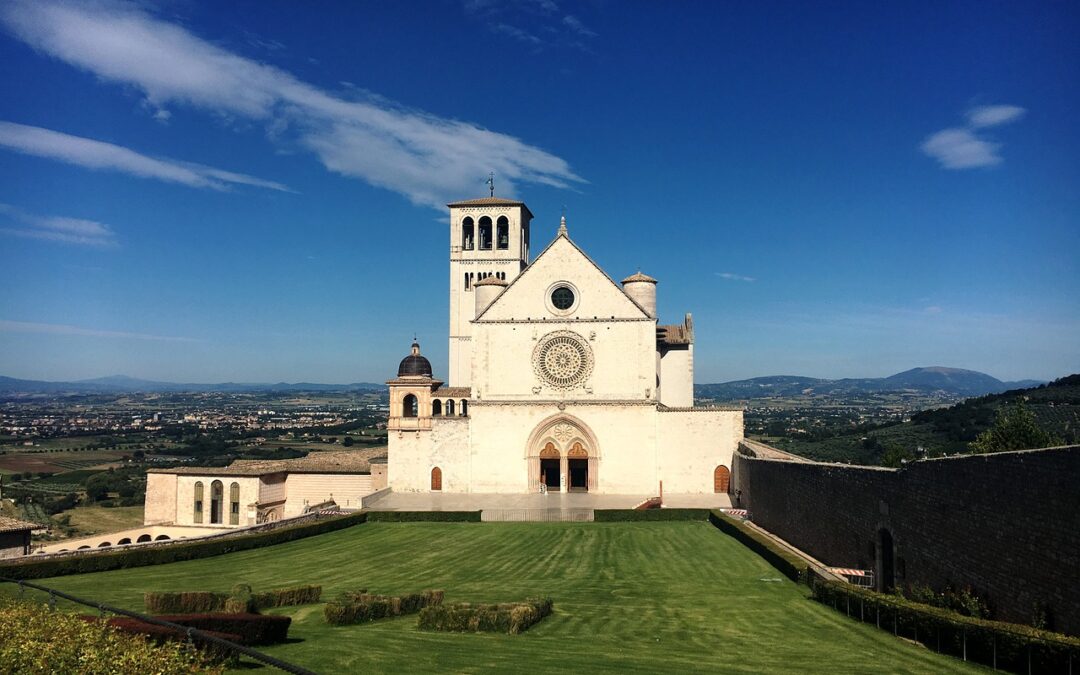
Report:
[[[754,523],[826,565],[893,564],[897,584],[970,585],[995,618],[1080,634],[1080,446],[891,470],[792,459],[744,443],[732,495]],[[893,555],[887,555],[891,538]]]

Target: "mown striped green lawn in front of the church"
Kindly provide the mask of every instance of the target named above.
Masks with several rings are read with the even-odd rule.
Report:
[[[950,673],[968,664],[808,599],[805,589],[706,523],[365,524],[258,551],[42,583],[141,609],[144,591],[321,583],[447,602],[550,595],[517,636],[421,633],[416,618],[330,627],[285,608],[297,642],[271,654],[343,672]]]

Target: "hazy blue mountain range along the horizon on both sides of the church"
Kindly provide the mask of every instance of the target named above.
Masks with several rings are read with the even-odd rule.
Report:
[[[694,384],[694,396],[714,401],[744,401],[772,396],[794,396],[808,394],[874,393],[887,391],[919,391],[923,393],[943,392],[959,396],[982,396],[1010,389],[1035,387],[1039,380],[1002,382],[985,373],[961,368],[927,367],[912,368],[889,377],[845,378],[828,380],[814,377],[773,375],[735,380],[715,384]],[[343,392],[384,391],[386,386],[375,382],[353,382],[350,384],[320,384],[315,382],[220,382],[178,383],[141,380],[125,375],[98,377],[73,382],[48,382],[43,380],[21,380],[0,376],[0,393],[5,394],[60,394],[60,393],[129,393],[129,392]]]

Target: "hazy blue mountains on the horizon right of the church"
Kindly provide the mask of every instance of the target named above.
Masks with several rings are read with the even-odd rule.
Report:
[[[836,395],[888,391],[942,392],[957,396],[983,396],[1011,389],[1040,384],[1038,380],[1002,382],[975,370],[930,366],[912,368],[889,377],[845,378],[838,380],[774,375],[717,384],[694,384],[694,396],[714,401],[745,401],[774,396]]]

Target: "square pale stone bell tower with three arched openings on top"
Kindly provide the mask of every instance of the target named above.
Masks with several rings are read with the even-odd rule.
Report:
[[[489,184],[491,185],[491,184]],[[495,197],[447,204],[450,208],[450,387],[472,380],[472,320],[476,282],[495,276],[508,284],[529,264],[525,202]]]

